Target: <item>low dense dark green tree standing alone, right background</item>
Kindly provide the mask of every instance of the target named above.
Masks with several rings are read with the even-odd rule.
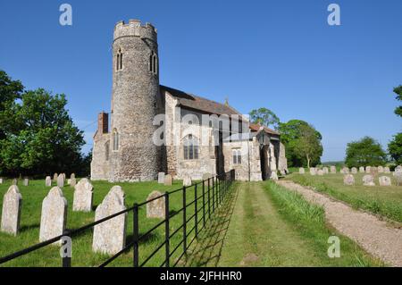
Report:
[[[348,143],[345,163],[348,167],[384,165],[387,155],[373,138],[364,137]]]

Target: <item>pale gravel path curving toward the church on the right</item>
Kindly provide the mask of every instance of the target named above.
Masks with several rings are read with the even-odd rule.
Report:
[[[368,253],[386,264],[402,267],[402,229],[392,228],[373,214],[356,211],[349,205],[292,181],[280,180],[278,184],[296,190],[307,201],[322,205],[327,221],[340,233],[355,240]]]

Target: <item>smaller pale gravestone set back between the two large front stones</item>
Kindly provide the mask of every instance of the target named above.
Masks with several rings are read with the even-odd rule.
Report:
[[[91,182],[86,178],[81,179],[80,182],[75,185],[74,189],[72,211],[90,212],[92,210],[92,200],[94,196],[94,187]]]

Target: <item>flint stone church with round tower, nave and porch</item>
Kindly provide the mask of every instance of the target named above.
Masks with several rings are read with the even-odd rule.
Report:
[[[157,30],[138,20],[114,27],[111,112],[97,122],[91,180],[147,181],[158,172],[201,180],[234,169],[237,180],[257,181],[288,172],[280,133],[227,100],[159,83]]]

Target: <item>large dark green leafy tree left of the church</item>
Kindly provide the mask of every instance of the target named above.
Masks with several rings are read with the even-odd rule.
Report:
[[[4,113],[10,119],[2,121],[5,131],[0,139],[0,172],[8,175],[80,172],[84,138],[65,109],[65,96],[52,96],[42,88],[21,93],[21,85],[16,81],[3,82],[2,97],[7,96],[3,90],[17,92],[13,91],[15,96],[7,96],[10,102]]]

